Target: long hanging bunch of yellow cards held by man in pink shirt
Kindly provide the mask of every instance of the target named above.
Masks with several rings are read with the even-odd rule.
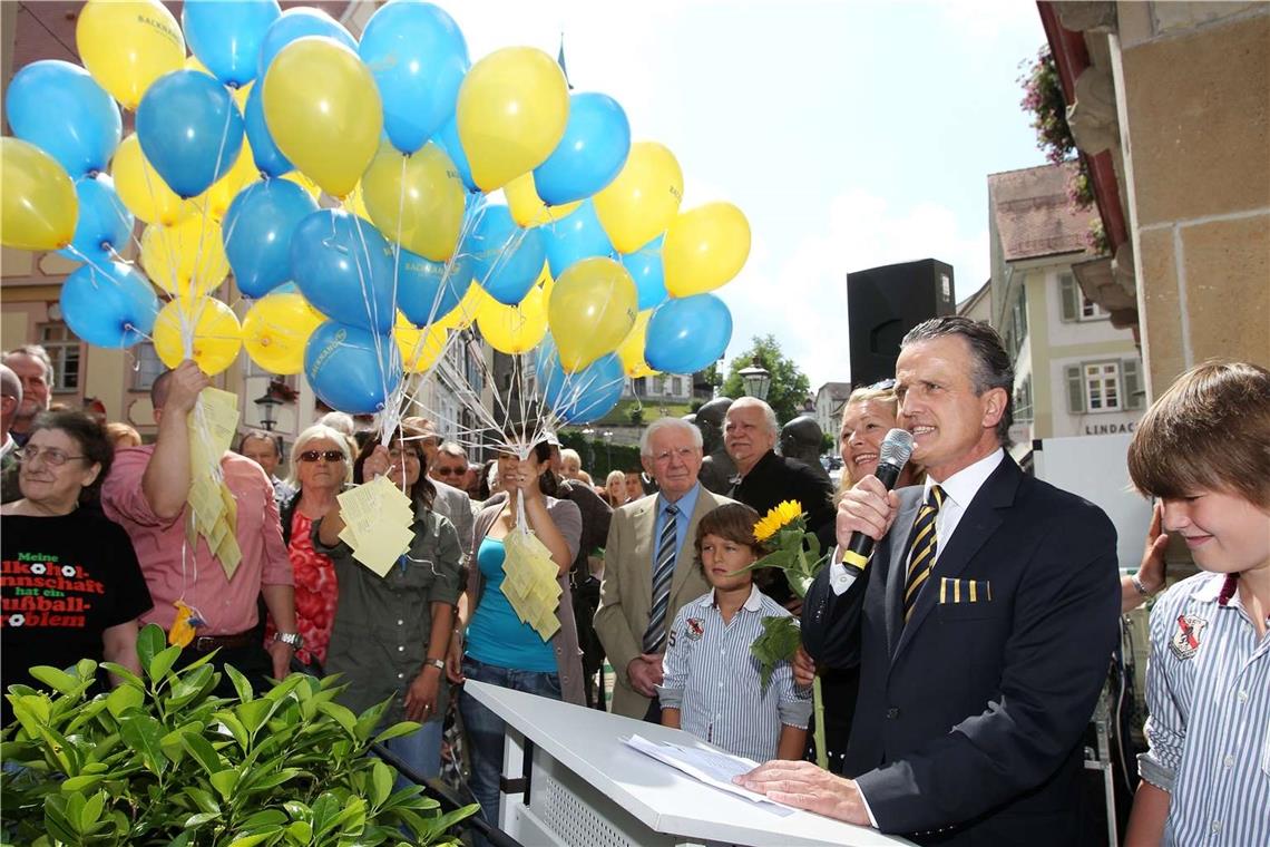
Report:
[[[207,540],[226,579],[234,579],[243,561],[236,533],[237,503],[221,472],[221,457],[234,441],[237,419],[237,395],[207,387],[199,392],[198,405],[185,424],[189,432],[190,471],[188,535],[197,533]]]

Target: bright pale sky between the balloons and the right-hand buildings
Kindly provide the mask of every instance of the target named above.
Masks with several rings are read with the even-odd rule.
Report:
[[[772,333],[813,390],[848,378],[847,272],[933,257],[966,297],[989,273],[987,175],[1044,164],[1019,108],[1044,43],[1026,0],[441,3],[474,61],[554,56],[563,30],[575,89],[676,154],[683,208],[745,212],[728,357]]]

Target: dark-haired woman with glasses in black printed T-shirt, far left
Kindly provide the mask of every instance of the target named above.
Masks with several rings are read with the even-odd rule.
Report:
[[[150,592],[123,527],[91,502],[110,470],[105,430],[80,411],[46,411],[18,453],[22,499],[0,509],[5,563],[3,686],[43,688],[29,668],[105,659],[141,673],[137,617]],[[3,698],[4,724],[13,720]]]

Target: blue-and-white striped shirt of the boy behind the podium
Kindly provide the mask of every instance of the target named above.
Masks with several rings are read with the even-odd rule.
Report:
[[[790,613],[758,587],[724,622],[714,589],[674,616],[658,686],[663,709],[679,710],[679,726],[697,738],[756,762],[776,758],[781,725],[806,729],[812,691],[794,684],[789,662],[776,665],[759,692],[758,660],[749,645],[763,634],[763,617]]]

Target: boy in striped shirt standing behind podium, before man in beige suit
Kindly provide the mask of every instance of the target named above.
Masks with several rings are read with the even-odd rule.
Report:
[[[749,653],[765,617],[789,617],[753,584],[753,571],[737,573],[765,552],[754,538],[757,521],[758,513],[743,503],[701,517],[697,566],[712,589],[676,615],[658,686],[664,726],[756,763],[803,758],[812,716],[810,693],[795,684],[790,663],[776,665],[765,691]]]

